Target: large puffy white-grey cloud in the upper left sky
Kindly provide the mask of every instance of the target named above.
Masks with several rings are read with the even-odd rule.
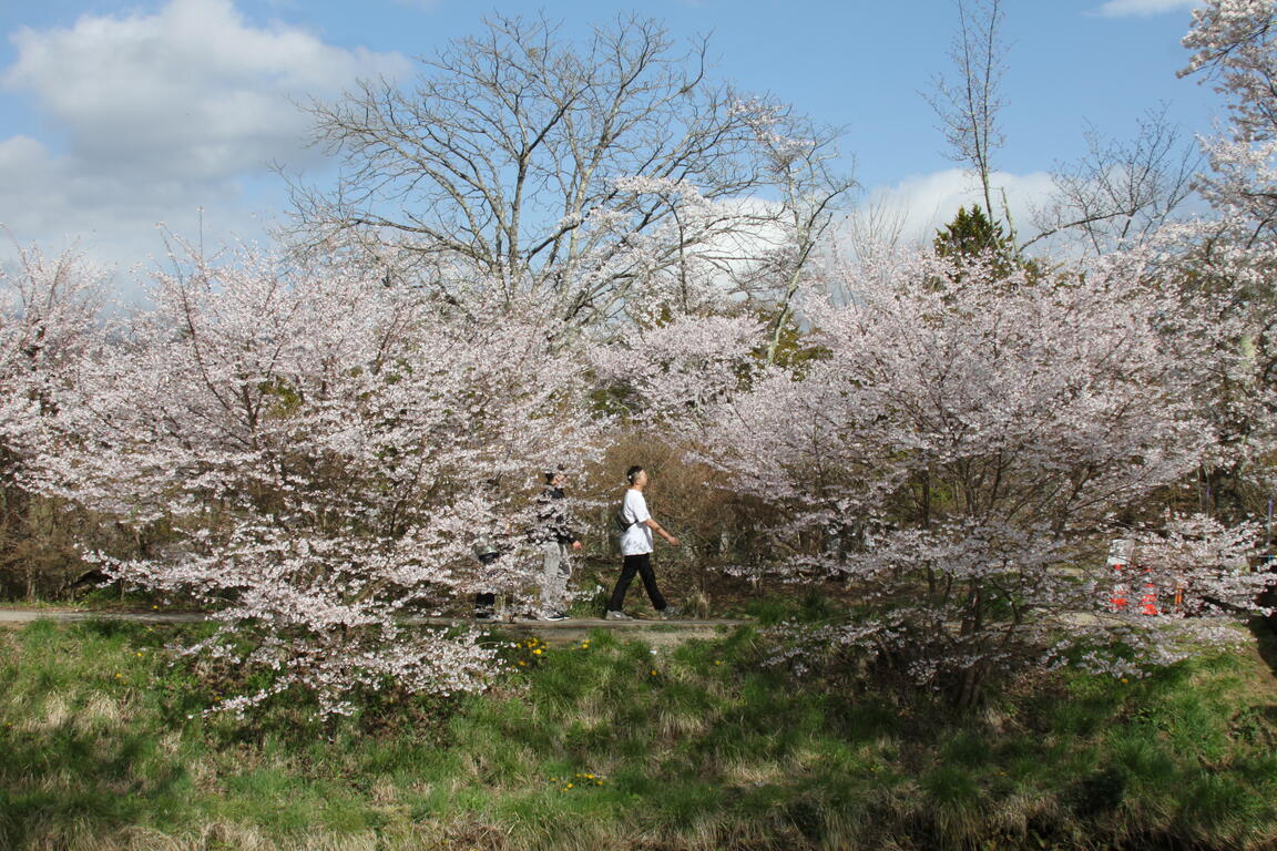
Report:
[[[82,236],[111,260],[142,259],[124,251],[155,250],[155,222],[181,232],[200,207],[208,230],[239,221],[241,233],[259,232],[245,211],[273,203],[273,193],[253,191],[272,163],[318,162],[294,101],[410,71],[396,54],[254,27],[231,0],[84,15],[10,41],[17,60],[0,83],[33,98],[51,137],[0,139],[4,223],[23,242]]]

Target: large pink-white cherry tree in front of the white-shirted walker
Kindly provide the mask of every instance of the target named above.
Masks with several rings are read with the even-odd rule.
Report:
[[[1138,658],[1165,658],[1176,635],[1230,634],[1161,603],[1110,606],[1108,540],[1158,526],[1156,498],[1212,444],[1190,392],[1200,320],[1144,269],[1140,255],[1054,276],[996,256],[872,260],[844,272],[848,304],[807,304],[822,357],[766,366],[733,346],[747,328],[687,320],[617,362],[695,458],[771,509],[770,569],[845,581],[856,614],[822,640],[968,706],[1065,647],[1131,634]],[[1176,568],[1198,610],[1249,606],[1263,581],[1221,555],[1240,545],[1195,533]]]

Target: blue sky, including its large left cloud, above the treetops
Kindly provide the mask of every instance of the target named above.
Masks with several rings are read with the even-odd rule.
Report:
[[[1041,200],[1046,171],[1084,152],[1085,121],[1125,138],[1165,102],[1185,135],[1211,131],[1216,96],[1175,77],[1191,0],[1004,4],[995,166],[1013,207]],[[949,70],[950,0],[0,0],[0,223],[18,242],[75,240],[124,265],[162,250],[157,222],[257,237],[286,203],[271,163],[323,179],[290,98],[410,79],[414,56],[494,9],[544,10],[568,33],[638,11],[676,37],[709,36],[718,77],[847,128],[863,199],[891,198],[918,233],[963,200],[922,96]]]

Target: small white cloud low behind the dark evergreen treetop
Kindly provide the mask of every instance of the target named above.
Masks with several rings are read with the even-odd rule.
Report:
[[[999,219],[1005,221],[1005,203],[1011,222],[1020,231],[1032,230],[1029,218],[1033,208],[1043,207],[1054,191],[1051,176],[1041,171],[1027,175],[995,172],[992,185],[997,193],[994,205]],[[953,221],[959,207],[983,207],[983,203],[978,181],[962,168],[917,175],[891,186],[876,186],[866,193],[852,217],[852,227],[858,232],[850,241],[894,236],[900,245],[930,244],[936,231]]]

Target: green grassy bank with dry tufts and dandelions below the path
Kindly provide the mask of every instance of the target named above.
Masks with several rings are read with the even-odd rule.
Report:
[[[1277,841],[1260,649],[1120,683],[1042,674],[978,716],[762,663],[511,647],[494,690],[203,716],[163,628],[0,634],[0,847],[1259,848]]]

